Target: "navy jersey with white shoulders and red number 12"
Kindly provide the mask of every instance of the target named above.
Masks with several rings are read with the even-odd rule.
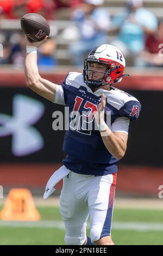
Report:
[[[63,151],[67,154],[63,160],[64,165],[79,174],[116,173],[118,160],[106,149],[95,127],[93,113],[97,111],[101,95],[104,93],[106,96],[105,122],[109,119],[111,127],[120,117],[137,119],[141,110],[140,102],[114,87],[111,87],[110,91],[99,88],[93,93],[84,83],[83,74],[77,72],[70,72],[61,86],[64,91],[65,105],[69,107],[71,113],[70,129],[65,133],[63,145]],[[77,112],[78,118],[75,114]],[[89,128],[90,123],[92,123],[92,129]]]

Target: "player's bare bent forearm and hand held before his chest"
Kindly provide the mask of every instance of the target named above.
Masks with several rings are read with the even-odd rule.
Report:
[[[104,108],[105,108],[105,95],[101,96],[101,103],[98,105],[98,115],[96,123],[100,127],[104,123]],[[98,119],[98,120],[97,120]],[[99,129],[100,131],[100,129]],[[108,126],[105,125],[105,130],[100,131],[106,149],[117,160],[122,159],[127,149],[128,135],[124,132],[112,132]]]

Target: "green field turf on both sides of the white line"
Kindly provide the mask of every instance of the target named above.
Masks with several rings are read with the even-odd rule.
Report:
[[[38,207],[41,221],[62,223],[59,209]],[[112,223],[139,222],[146,224],[163,224],[161,210],[115,209]],[[4,223],[4,222],[3,222]],[[0,223],[0,245],[64,245],[64,229],[52,227],[4,227]],[[41,222],[40,222],[41,223]],[[89,230],[87,230],[89,235]],[[163,230],[121,230],[112,229],[112,239],[116,245],[163,245]]]

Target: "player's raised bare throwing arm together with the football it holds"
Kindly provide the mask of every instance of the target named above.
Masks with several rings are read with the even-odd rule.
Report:
[[[26,48],[27,48],[27,55],[25,59],[26,83],[30,89],[34,90],[35,93],[41,95],[42,97],[45,97],[49,101],[54,102],[56,84],[43,79],[39,75],[39,70],[37,68],[37,48],[47,40],[48,34],[49,34],[49,31],[48,31],[49,25],[41,15],[33,14],[32,17],[30,17],[29,14],[27,15],[24,15],[21,19],[21,26],[24,33],[26,34]],[[37,27],[35,25],[36,23],[37,23]],[[43,30],[42,27],[45,27],[45,26],[46,26],[46,29]]]

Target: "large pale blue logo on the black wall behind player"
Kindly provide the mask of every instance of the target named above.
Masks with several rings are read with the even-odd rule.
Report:
[[[12,135],[13,155],[25,156],[43,148],[43,138],[32,125],[42,117],[44,108],[41,102],[17,94],[13,98],[13,116],[0,113],[0,137]]]

